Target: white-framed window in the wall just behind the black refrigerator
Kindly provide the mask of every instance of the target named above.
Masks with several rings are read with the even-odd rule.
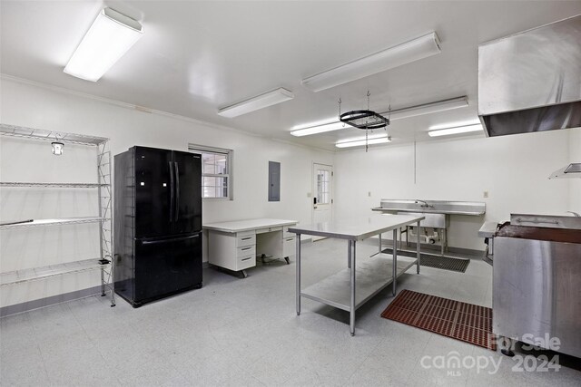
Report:
[[[202,155],[202,198],[232,198],[232,150],[190,144],[188,149]]]

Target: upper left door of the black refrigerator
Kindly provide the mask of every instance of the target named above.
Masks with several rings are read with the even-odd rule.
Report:
[[[172,151],[135,147],[135,237],[172,234]]]

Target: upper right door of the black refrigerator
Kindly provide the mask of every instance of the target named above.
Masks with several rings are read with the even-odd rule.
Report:
[[[173,150],[175,180],[173,234],[202,230],[202,159],[199,154]]]

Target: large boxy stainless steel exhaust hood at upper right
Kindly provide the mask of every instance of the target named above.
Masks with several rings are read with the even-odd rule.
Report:
[[[487,136],[581,127],[581,15],[478,46]]]

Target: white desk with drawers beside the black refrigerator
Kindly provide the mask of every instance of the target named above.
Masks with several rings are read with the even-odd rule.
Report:
[[[209,223],[202,227],[208,230],[208,262],[215,266],[241,272],[256,266],[256,255],[285,258],[290,263],[294,256],[294,234],[289,226],[297,224],[288,219],[245,219],[231,222]]]

